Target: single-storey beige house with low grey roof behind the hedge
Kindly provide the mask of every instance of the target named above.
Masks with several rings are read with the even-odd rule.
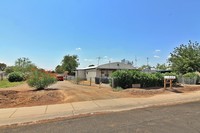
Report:
[[[132,65],[113,62],[99,66],[92,66],[87,68],[78,68],[76,70],[76,77],[80,79],[95,81],[95,77],[110,77],[116,70],[133,70],[136,69]]]

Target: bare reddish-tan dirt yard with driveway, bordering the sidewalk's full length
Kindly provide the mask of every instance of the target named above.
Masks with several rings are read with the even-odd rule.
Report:
[[[45,90],[36,91],[26,83],[11,88],[0,88],[0,108],[27,107],[47,104],[60,104],[88,100],[113,99],[125,97],[149,97],[156,94],[182,93],[200,90],[200,87],[183,87],[173,91],[157,89],[127,89],[114,92],[111,87],[76,85],[60,81]]]

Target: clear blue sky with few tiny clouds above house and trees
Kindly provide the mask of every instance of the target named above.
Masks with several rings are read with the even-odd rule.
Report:
[[[166,63],[189,40],[200,42],[199,0],[2,0],[0,62],[29,58],[54,70],[65,55],[79,67],[121,61]],[[136,61],[137,60],[137,61]]]

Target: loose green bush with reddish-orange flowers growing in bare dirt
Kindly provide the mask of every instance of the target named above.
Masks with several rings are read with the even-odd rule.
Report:
[[[43,90],[49,85],[54,84],[56,81],[56,78],[52,75],[44,71],[35,70],[32,72],[27,83],[29,86],[35,87],[37,90]]]

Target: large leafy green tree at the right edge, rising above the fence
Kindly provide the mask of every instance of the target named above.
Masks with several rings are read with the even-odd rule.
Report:
[[[188,45],[176,47],[169,58],[172,70],[185,74],[200,71],[200,45],[189,41]]]

